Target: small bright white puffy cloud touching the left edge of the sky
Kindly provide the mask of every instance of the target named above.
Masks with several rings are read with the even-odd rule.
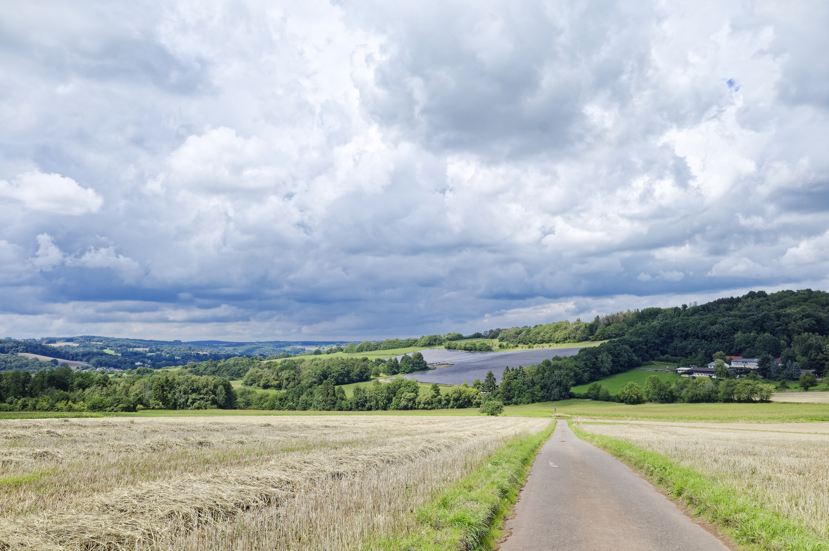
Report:
[[[0,180],[0,198],[19,201],[27,210],[61,215],[84,215],[97,212],[104,198],[95,190],[60,174],[40,171],[23,172],[11,183]]]

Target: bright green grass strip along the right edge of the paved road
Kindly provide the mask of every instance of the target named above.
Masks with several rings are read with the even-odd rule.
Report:
[[[734,541],[749,549],[829,551],[829,542],[817,537],[812,530],[768,509],[749,495],[711,481],[691,467],[677,465],[668,457],[618,438],[585,433],[574,423],[570,423],[570,428],[585,442],[649,476],[655,484],[693,507],[696,515],[722,526]]]

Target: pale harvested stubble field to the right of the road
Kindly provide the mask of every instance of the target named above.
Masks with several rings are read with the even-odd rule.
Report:
[[[670,457],[829,538],[826,423],[768,423],[769,431],[763,430],[767,423],[733,423],[732,429],[732,423],[678,424],[580,423],[579,428]],[[781,432],[787,428],[792,432]],[[812,429],[816,433],[805,433]]]

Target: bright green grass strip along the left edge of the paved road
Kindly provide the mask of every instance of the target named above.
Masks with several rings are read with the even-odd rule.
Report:
[[[516,438],[460,481],[417,510],[419,532],[387,534],[365,551],[471,551],[495,549],[501,526],[526,481],[555,420],[541,433]]]

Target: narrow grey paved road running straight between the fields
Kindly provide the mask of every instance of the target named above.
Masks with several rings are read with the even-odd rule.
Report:
[[[501,551],[727,551],[628,466],[559,421],[536,457]]]

